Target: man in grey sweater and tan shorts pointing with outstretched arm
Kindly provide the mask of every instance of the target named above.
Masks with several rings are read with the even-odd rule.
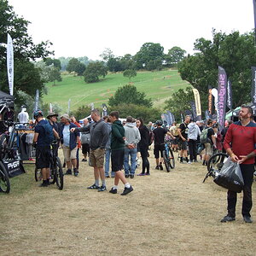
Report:
[[[101,118],[98,109],[93,109],[90,113],[93,123],[89,126],[73,128],[71,131],[86,132],[90,131],[90,165],[94,168],[95,183],[87,189],[97,189],[99,192],[107,190],[104,173],[104,154],[108,143],[108,126]],[[101,177],[102,186],[100,187],[99,178]]]

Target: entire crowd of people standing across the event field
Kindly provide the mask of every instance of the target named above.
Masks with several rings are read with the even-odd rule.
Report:
[[[84,156],[82,161],[88,161],[94,168],[95,182],[88,189],[105,191],[106,178],[113,177],[110,193],[117,194],[119,181],[125,186],[121,195],[131,193],[133,188],[128,178],[135,177],[138,158],[142,160],[142,172],[137,175],[150,175],[148,147],[154,140],[155,169],[163,170],[162,153],[166,140],[169,140],[172,150],[178,152],[181,164],[196,163],[200,158],[202,165],[207,166],[207,161],[216,150],[226,152],[233,161],[239,162],[245,181],[242,215],[245,222],[252,222],[249,212],[252,208],[251,187],[256,154],[256,125],[252,119],[252,108],[242,107],[240,120],[234,124],[232,121],[226,121],[222,131],[219,130],[216,120],[195,121],[189,115],[185,117],[183,123],[177,125],[174,122],[171,127],[164,126],[161,120],[144,125],[143,119],[133,119],[131,116],[128,116],[125,122],[121,122],[118,111],[113,111],[102,118],[99,110],[94,109],[90,118],[83,120],[82,126],[67,113],[61,115],[61,123],[56,122],[57,116],[55,113],[49,113],[47,119],[55,139],[61,143],[67,165],[66,175],[72,173],[74,176],[79,175],[79,148],[82,148]],[[44,131],[47,121],[40,110],[35,111],[34,119],[37,122],[34,136],[34,143],[37,143],[36,164],[42,170],[41,186],[47,187],[50,154],[50,145],[47,143]],[[241,147],[241,144],[245,147]],[[228,215],[222,219],[222,222],[235,220],[235,211],[236,193],[229,190]]]

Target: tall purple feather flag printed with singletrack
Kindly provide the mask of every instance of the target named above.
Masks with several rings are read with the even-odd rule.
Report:
[[[218,124],[220,131],[224,128],[227,97],[227,74],[223,67],[218,67]]]

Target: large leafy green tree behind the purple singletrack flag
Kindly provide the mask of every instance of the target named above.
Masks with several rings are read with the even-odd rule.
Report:
[[[208,85],[217,87],[218,66],[224,67],[232,82],[234,108],[250,102],[251,67],[256,62],[253,32],[226,35],[212,31],[212,41],[195,41],[195,55],[188,55],[178,64],[182,79],[187,80],[205,97]]]

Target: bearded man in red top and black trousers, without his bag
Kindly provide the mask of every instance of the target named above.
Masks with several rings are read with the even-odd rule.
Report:
[[[251,107],[241,106],[240,121],[230,125],[224,139],[224,149],[227,154],[230,155],[232,161],[239,163],[241,167],[244,180],[241,214],[246,223],[253,222],[250,211],[253,207],[252,184],[254,157],[256,155],[256,124],[250,120],[252,115],[253,109]],[[236,219],[236,198],[237,193],[228,190],[228,214],[221,222],[230,222]]]

